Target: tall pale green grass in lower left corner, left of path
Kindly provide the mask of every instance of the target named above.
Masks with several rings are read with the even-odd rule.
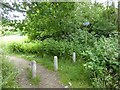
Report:
[[[18,84],[16,81],[17,69],[15,69],[14,65],[7,60],[7,58],[0,53],[0,89],[2,88],[18,88]]]

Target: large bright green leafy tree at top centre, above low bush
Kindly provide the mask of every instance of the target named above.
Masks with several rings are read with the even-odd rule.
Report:
[[[27,6],[29,10],[22,27],[31,39],[60,39],[75,32],[75,3],[31,2]]]

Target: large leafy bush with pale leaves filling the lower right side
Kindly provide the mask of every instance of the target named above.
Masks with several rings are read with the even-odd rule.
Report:
[[[94,87],[119,88],[118,39],[101,37],[83,55],[87,57],[84,66],[91,70]]]

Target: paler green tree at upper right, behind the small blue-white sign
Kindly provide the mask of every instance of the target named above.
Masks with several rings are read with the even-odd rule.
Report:
[[[108,37],[116,29],[116,8],[112,6],[104,7],[100,3],[84,3],[78,6],[77,11],[80,22],[90,22],[90,25],[87,27],[89,33],[95,32],[97,36],[106,36]],[[84,27],[80,27],[84,30]],[[86,28],[86,27],[85,27]]]

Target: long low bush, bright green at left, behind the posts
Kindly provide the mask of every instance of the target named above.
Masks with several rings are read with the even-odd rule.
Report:
[[[12,42],[8,46],[9,51],[21,52],[21,53],[32,53],[32,54],[44,54],[49,55],[71,55],[73,52],[73,45],[66,41],[55,41],[53,39],[46,39],[44,41],[32,41],[17,43]]]

